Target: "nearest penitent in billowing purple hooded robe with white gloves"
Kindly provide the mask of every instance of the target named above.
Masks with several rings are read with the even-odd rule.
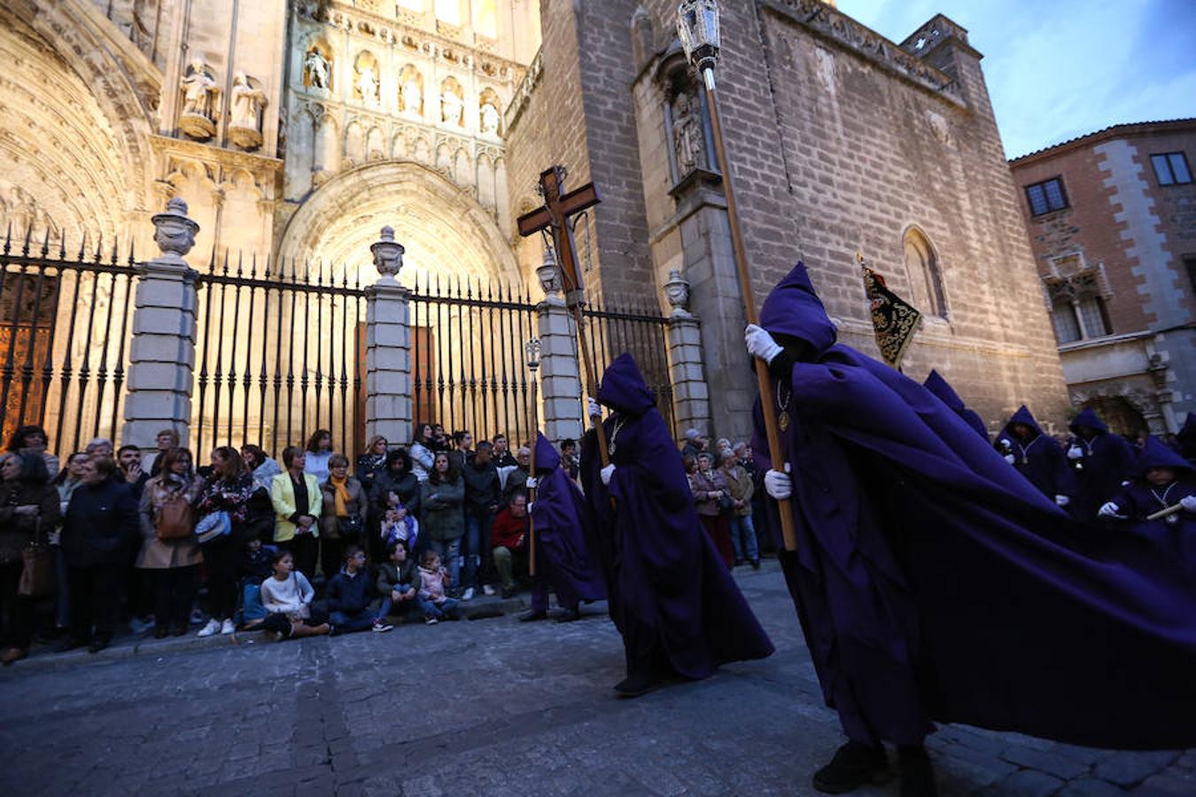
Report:
[[[804,265],[761,323],[786,347],[768,397],[788,416],[776,462],[792,465],[797,551],[782,565],[850,737],[913,744],[940,721],[1196,744],[1196,586],[1180,568],[1090,534],[923,386],[836,345]]]

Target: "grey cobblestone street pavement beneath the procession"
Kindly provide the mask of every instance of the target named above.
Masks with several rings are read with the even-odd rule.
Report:
[[[814,793],[810,774],[840,743],[837,721],[775,563],[739,580],[777,652],[637,700],[612,697],[622,646],[605,615],[31,658],[0,673],[0,791]],[[929,747],[944,795],[1196,795],[1196,752],[958,725]]]

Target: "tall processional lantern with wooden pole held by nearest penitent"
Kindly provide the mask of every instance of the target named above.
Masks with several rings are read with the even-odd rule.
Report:
[[[731,161],[727,158],[726,142],[722,136],[722,117],[719,114],[718,84],[714,68],[719,62],[719,4],[718,0],[685,0],[677,8],[677,32],[681,36],[685,55],[697,68],[706,85],[707,108],[710,111],[710,130],[714,135],[714,151],[719,159],[719,171],[722,173],[722,186],[727,197],[727,219],[731,222],[731,245],[736,257],[736,270],[739,274],[739,290],[743,293],[744,315],[749,324],[758,324],[756,301],[752,298],[751,274],[748,270],[748,255],[744,249],[743,231],[739,226],[739,211],[736,204],[736,192],[731,179]],[[756,357],[756,384],[759,388],[761,415],[764,416],[764,434],[768,439],[768,452],[773,466],[783,466],[781,458],[781,431],[777,425],[776,406],[769,400],[773,394],[771,375],[768,363]],[[780,501],[781,534],[786,551],[797,551],[797,533],[793,527],[793,513],[789,501]]]

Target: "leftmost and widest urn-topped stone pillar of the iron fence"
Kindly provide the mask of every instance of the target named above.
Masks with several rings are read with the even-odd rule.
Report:
[[[187,203],[173,198],[153,216],[154,243],[161,255],[138,264],[136,309],[129,345],[128,396],[121,445],[157,448],[163,429],[188,445],[195,369],[195,283],[199,274],[183,256],[195,245],[200,226]],[[147,465],[148,467],[148,465]]]

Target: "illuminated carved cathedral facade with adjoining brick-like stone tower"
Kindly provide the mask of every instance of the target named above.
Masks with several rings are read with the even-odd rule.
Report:
[[[603,194],[576,227],[591,293],[664,309],[666,283],[688,281],[703,361],[688,390],[708,417],[685,417],[744,436],[753,381],[722,178],[675,12],[0,0],[0,213],[35,240],[145,251],[150,216],[178,197],[201,272],[243,253],[371,283],[391,226],[404,284],[536,284],[543,243],[515,219],[561,164]],[[1061,424],[1058,354],[966,31],[939,16],[898,43],[834,4],[751,0],[725,4],[724,35],[756,301],[804,259],[842,339],[874,352],[862,252],[923,312],[908,373],[938,368],[990,425],[1021,403]]]

